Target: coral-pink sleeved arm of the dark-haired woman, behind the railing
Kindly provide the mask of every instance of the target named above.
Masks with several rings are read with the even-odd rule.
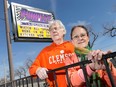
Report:
[[[73,55],[71,58],[67,58],[65,60],[66,65],[70,65],[70,64],[73,64],[73,63],[77,63],[77,62],[79,62],[79,59],[76,56],[76,54]],[[93,70],[91,70],[89,65],[86,66],[86,70],[87,70],[88,76],[91,76],[92,73],[94,72]],[[85,84],[85,78],[84,78],[83,70],[80,68],[80,66],[69,68],[68,69],[68,74],[69,74],[69,77],[70,77],[71,84],[73,86],[80,86],[81,87],[83,84]]]

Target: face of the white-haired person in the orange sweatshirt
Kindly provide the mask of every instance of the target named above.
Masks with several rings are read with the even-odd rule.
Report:
[[[65,34],[65,30],[58,23],[54,23],[50,27],[49,31],[53,41],[63,39],[63,36]]]

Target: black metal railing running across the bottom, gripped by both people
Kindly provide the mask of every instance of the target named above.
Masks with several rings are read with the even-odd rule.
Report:
[[[107,71],[108,77],[110,79],[111,85],[112,85],[112,87],[116,87],[114,84],[114,80],[113,80],[111,71],[109,69],[108,62],[107,62],[108,58],[110,58],[113,65],[116,66],[116,52],[102,56],[102,59],[103,59],[104,65],[106,66],[106,71]],[[87,72],[85,69],[85,64],[89,64],[89,63],[91,63],[91,61],[86,60],[86,61],[71,64],[71,65],[63,66],[60,68],[56,68],[56,69],[48,71],[47,73],[54,73],[55,85],[56,85],[56,87],[58,87],[55,72],[59,71],[59,70],[65,70],[66,71],[66,78],[67,78],[67,82],[68,82],[68,87],[71,87],[71,83],[70,83],[70,80],[68,77],[68,68],[80,66],[83,70],[83,73],[84,73],[84,77],[86,80],[86,86],[91,87],[90,82],[87,78]],[[13,82],[8,82],[6,84],[2,84],[2,85],[0,85],[0,87],[49,87],[49,86],[45,80],[40,80],[37,76],[28,76],[28,77],[14,80]]]

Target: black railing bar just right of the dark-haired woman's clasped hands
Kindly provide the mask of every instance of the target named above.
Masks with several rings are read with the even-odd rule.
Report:
[[[107,71],[107,74],[108,74],[108,77],[110,79],[110,83],[112,85],[112,87],[116,87],[115,84],[114,84],[114,81],[113,81],[113,78],[112,78],[112,75],[111,75],[111,71],[109,69],[109,65],[108,65],[108,62],[105,58],[103,58],[103,62],[104,62],[104,65],[106,67],[106,71]]]

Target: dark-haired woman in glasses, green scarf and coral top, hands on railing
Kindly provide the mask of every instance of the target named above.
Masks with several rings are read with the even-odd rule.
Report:
[[[111,87],[110,80],[105,71],[105,66],[101,60],[103,52],[101,50],[92,51],[89,46],[89,33],[87,28],[82,25],[74,26],[71,30],[71,40],[75,46],[75,53],[71,58],[67,58],[66,65],[77,63],[84,60],[92,60],[92,63],[86,65],[87,75],[91,87]],[[110,69],[112,70],[113,77],[116,79],[116,69],[109,62]],[[70,68],[68,70],[69,77],[74,87],[85,87],[86,82],[84,79],[83,71],[80,66]],[[115,81],[115,80],[114,80]]]

